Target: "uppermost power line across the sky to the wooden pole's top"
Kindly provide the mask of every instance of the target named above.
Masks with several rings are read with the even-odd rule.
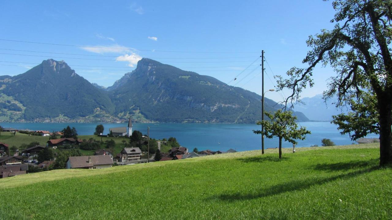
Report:
[[[114,50],[131,50],[131,51],[151,51],[151,52],[177,52],[177,53],[260,53],[260,52],[212,52],[212,51],[174,51],[174,50],[146,50],[146,49],[134,49],[134,48],[121,48],[121,47],[95,47],[95,46],[82,46],[82,45],[71,45],[71,44],[60,44],[60,43],[43,43],[43,42],[33,42],[33,41],[22,41],[22,40],[7,40],[0,39],[2,41],[12,41],[21,43],[36,43],[36,44],[46,44],[46,45],[56,45],[56,46],[68,46],[68,47],[88,47],[88,48],[98,48],[98,49],[114,49]]]

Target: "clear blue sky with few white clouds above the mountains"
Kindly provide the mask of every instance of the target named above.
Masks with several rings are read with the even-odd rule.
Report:
[[[333,15],[331,2],[321,0],[1,1],[0,39],[82,47],[0,40],[0,75],[21,74],[53,58],[108,87],[146,57],[261,94],[261,60],[243,71],[261,50],[269,64],[266,72],[276,83],[273,75],[306,67],[301,63],[309,50],[305,41],[330,29]],[[314,73],[315,86],[303,97],[322,93],[334,74],[320,67]],[[273,88],[268,76],[265,90]],[[281,101],[281,95],[269,92],[266,97]]]

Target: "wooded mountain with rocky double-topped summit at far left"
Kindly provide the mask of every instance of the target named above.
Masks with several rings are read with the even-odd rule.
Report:
[[[114,112],[109,96],[64,61],[44,60],[24,74],[3,79],[1,92],[3,99],[11,97],[22,105],[25,120],[86,117],[97,109]]]

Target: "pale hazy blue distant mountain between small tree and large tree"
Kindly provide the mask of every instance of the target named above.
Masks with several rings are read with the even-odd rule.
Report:
[[[333,103],[336,103],[338,99],[333,97],[328,99],[327,102],[323,99],[323,94],[318,94],[313,97],[305,97],[301,99],[303,104],[296,103],[294,110],[302,112],[310,120],[314,121],[331,121],[332,115],[338,115],[341,113],[347,113],[347,108],[336,108]]]

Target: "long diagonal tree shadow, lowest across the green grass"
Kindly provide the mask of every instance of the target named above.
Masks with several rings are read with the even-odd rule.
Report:
[[[281,193],[308,189],[312,186],[322,185],[322,184],[332,182],[332,181],[338,180],[338,179],[350,179],[350,178],[356,177],[358,175],[361,175],[363,173],[368,173],[368,172],[377,170],[378,168],[379,168],[378,166],[373,166],[370,168],[365,168],[365,169],[357,170],[354,172],[340,174],[340,175],[336,175],[334,177],[328,177],[328,178],[322,178],[322,179],[289,181],[289,182],[285,182],[282,184],[277,184],[275,186],[271,186],[266,189],[262,189],[258,193],[247,193],[247,194],[223,193],[223,194],[219,195],[218,198],[220,200],[234,202],[236,200],[250,200],[250,199],[255,199],[255,198],[268,197],[268,196],[272,196],[272,195],[278,195]],[[215,199],[215,198],[216,197],[213,197],[211,199]]]

